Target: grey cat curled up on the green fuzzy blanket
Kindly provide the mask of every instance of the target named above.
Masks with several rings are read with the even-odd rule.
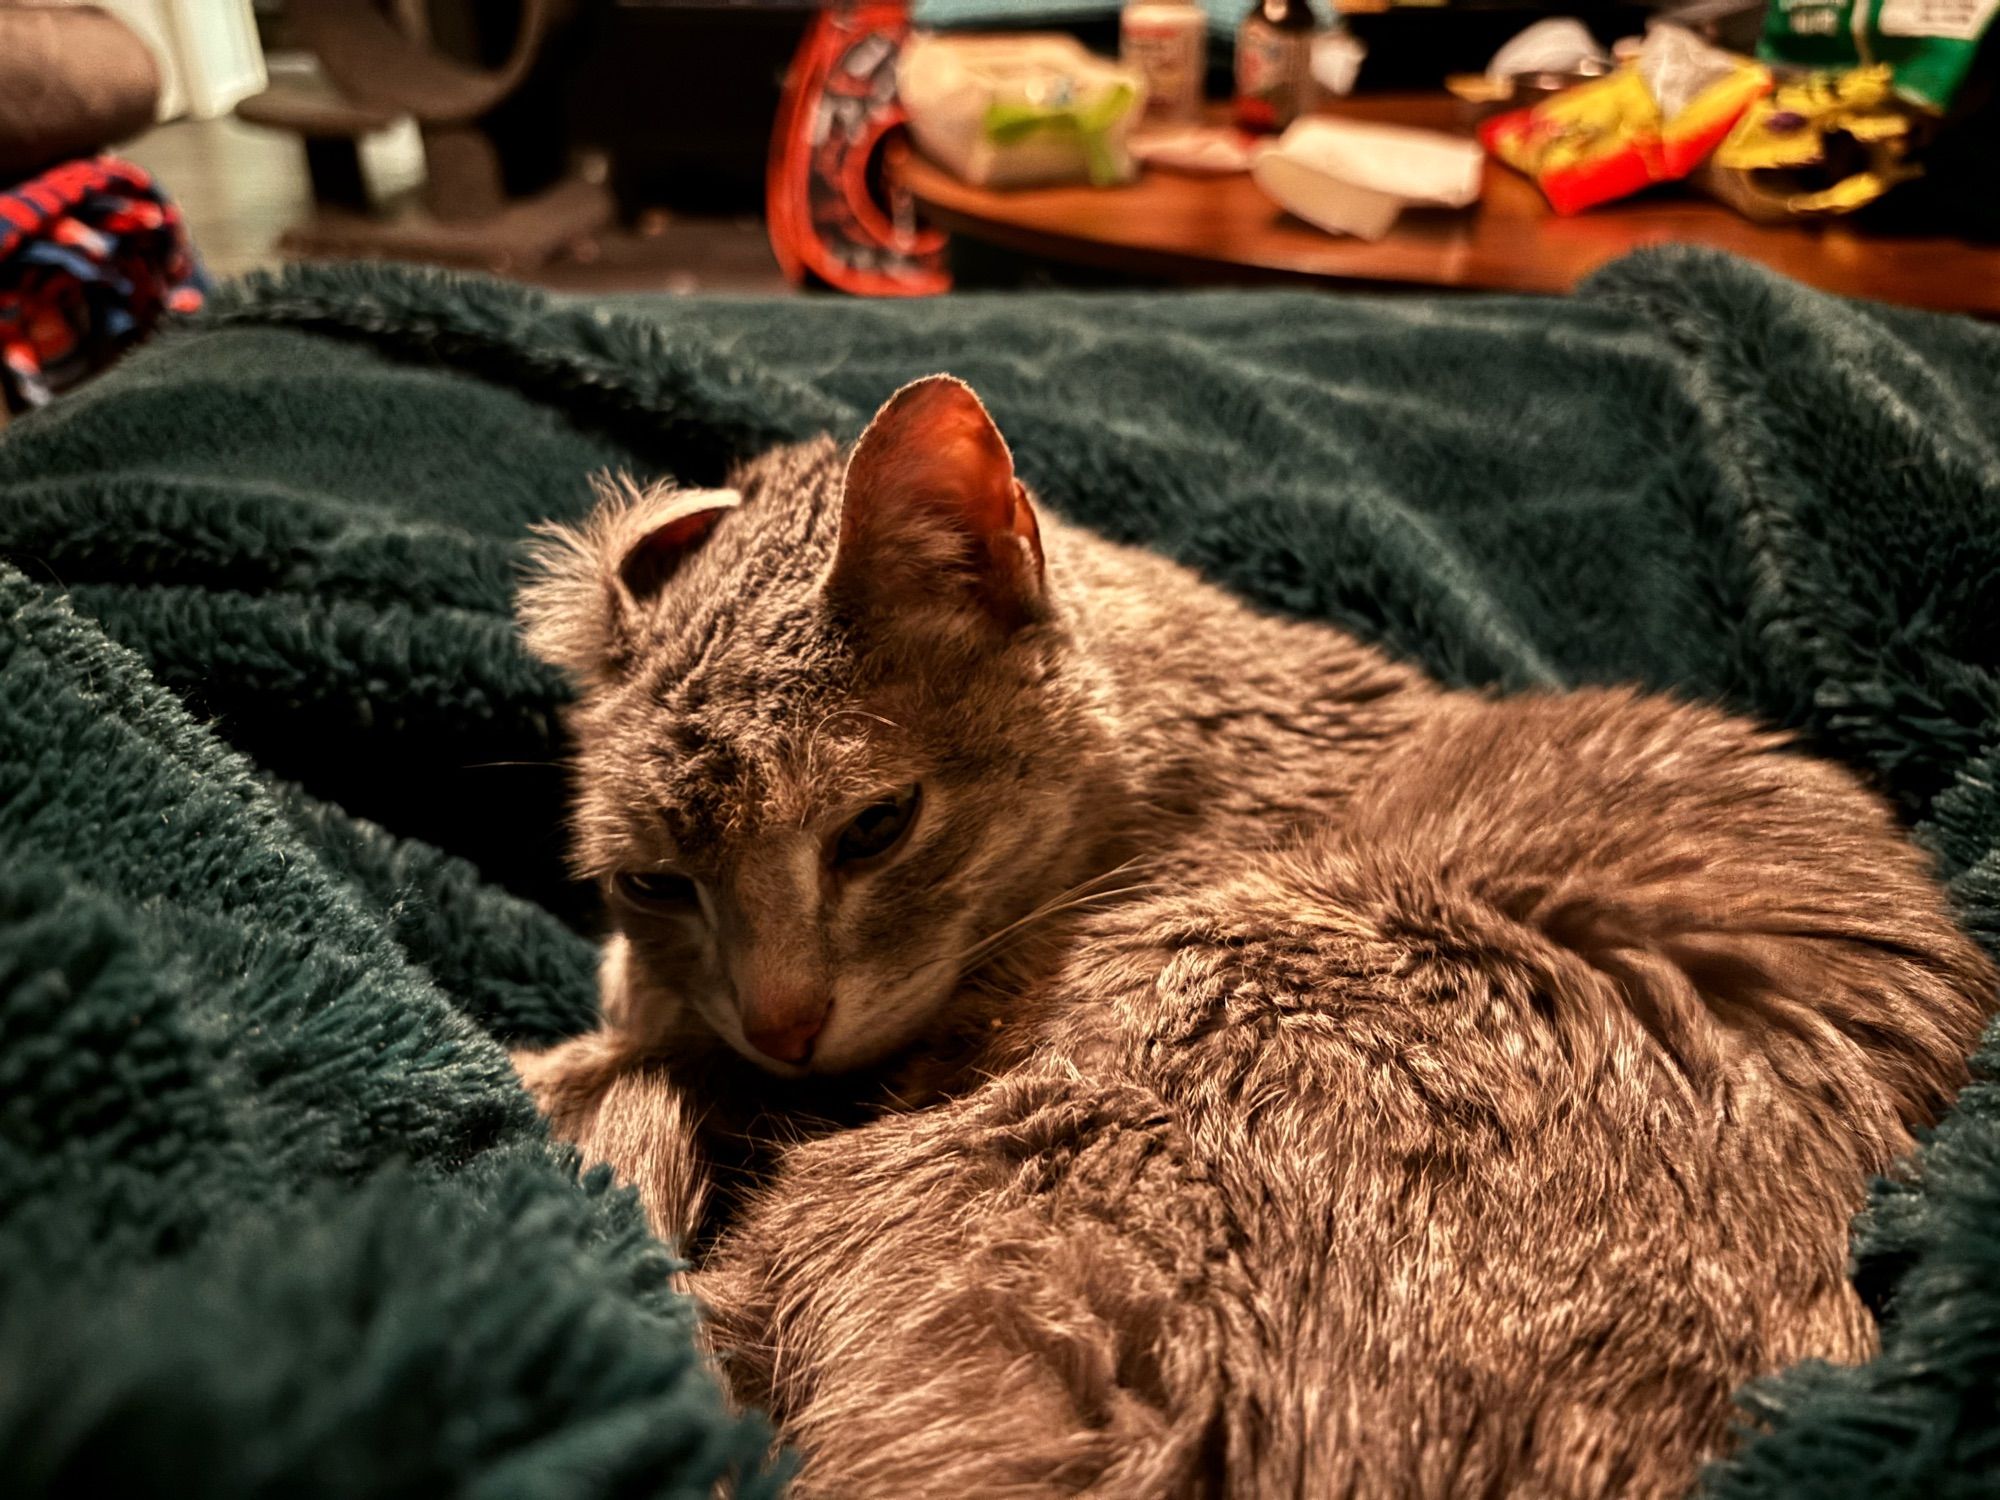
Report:
[[[1672,1494],[1870,1352],[1994,972],[1846,772],[1264,618],[946,378],[610,494],[522,616],[618,932],[518,1066],[798,1492]]]

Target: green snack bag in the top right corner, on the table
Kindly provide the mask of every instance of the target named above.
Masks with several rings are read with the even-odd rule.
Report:
[[[1866,68],[1886,62],[1912,104],[1950,108],[2000,0],[1770,0],[1764,62]]]

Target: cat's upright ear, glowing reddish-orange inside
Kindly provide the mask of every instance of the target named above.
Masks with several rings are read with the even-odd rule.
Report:
[[[876,412],[848,460],[828,588],[890,610],[1042,618],[1042,532],[972,386],[928,376]]]

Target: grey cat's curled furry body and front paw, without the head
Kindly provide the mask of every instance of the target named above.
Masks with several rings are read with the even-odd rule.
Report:
[[[700,1246],[800,1494],[1664,1496],[1744,1380],[1870,1352],[1848,1218],[1994,988],[1874,796],[1712,710],[1448,694],[1046,552],[1116,616],[1060,662],[1096,812],[1008,910],[1154,858],[904,1038],[956,1086],[776,1150]],[[742,1080],[630,958],[522,1072],[686,1232]]]

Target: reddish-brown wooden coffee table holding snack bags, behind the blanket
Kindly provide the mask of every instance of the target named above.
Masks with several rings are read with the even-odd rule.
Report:
[[[1470,134],[1446,94],[1360,96],[1326,114]],[[2000,248],[1840,224],[1760,226],[1678,186],[1558,218],[1532,182],[1498,162],[1486,164],[1478,204],[1410,210],[1376,244],[1292,218],[1244,174],[1148,168],[1128,188],[988,192],[912,156],[904,180],[928,218],[954,234],[1148,280],[1566,292],[1628,250],[1706,244],[1844,296],[2000,316]]]

